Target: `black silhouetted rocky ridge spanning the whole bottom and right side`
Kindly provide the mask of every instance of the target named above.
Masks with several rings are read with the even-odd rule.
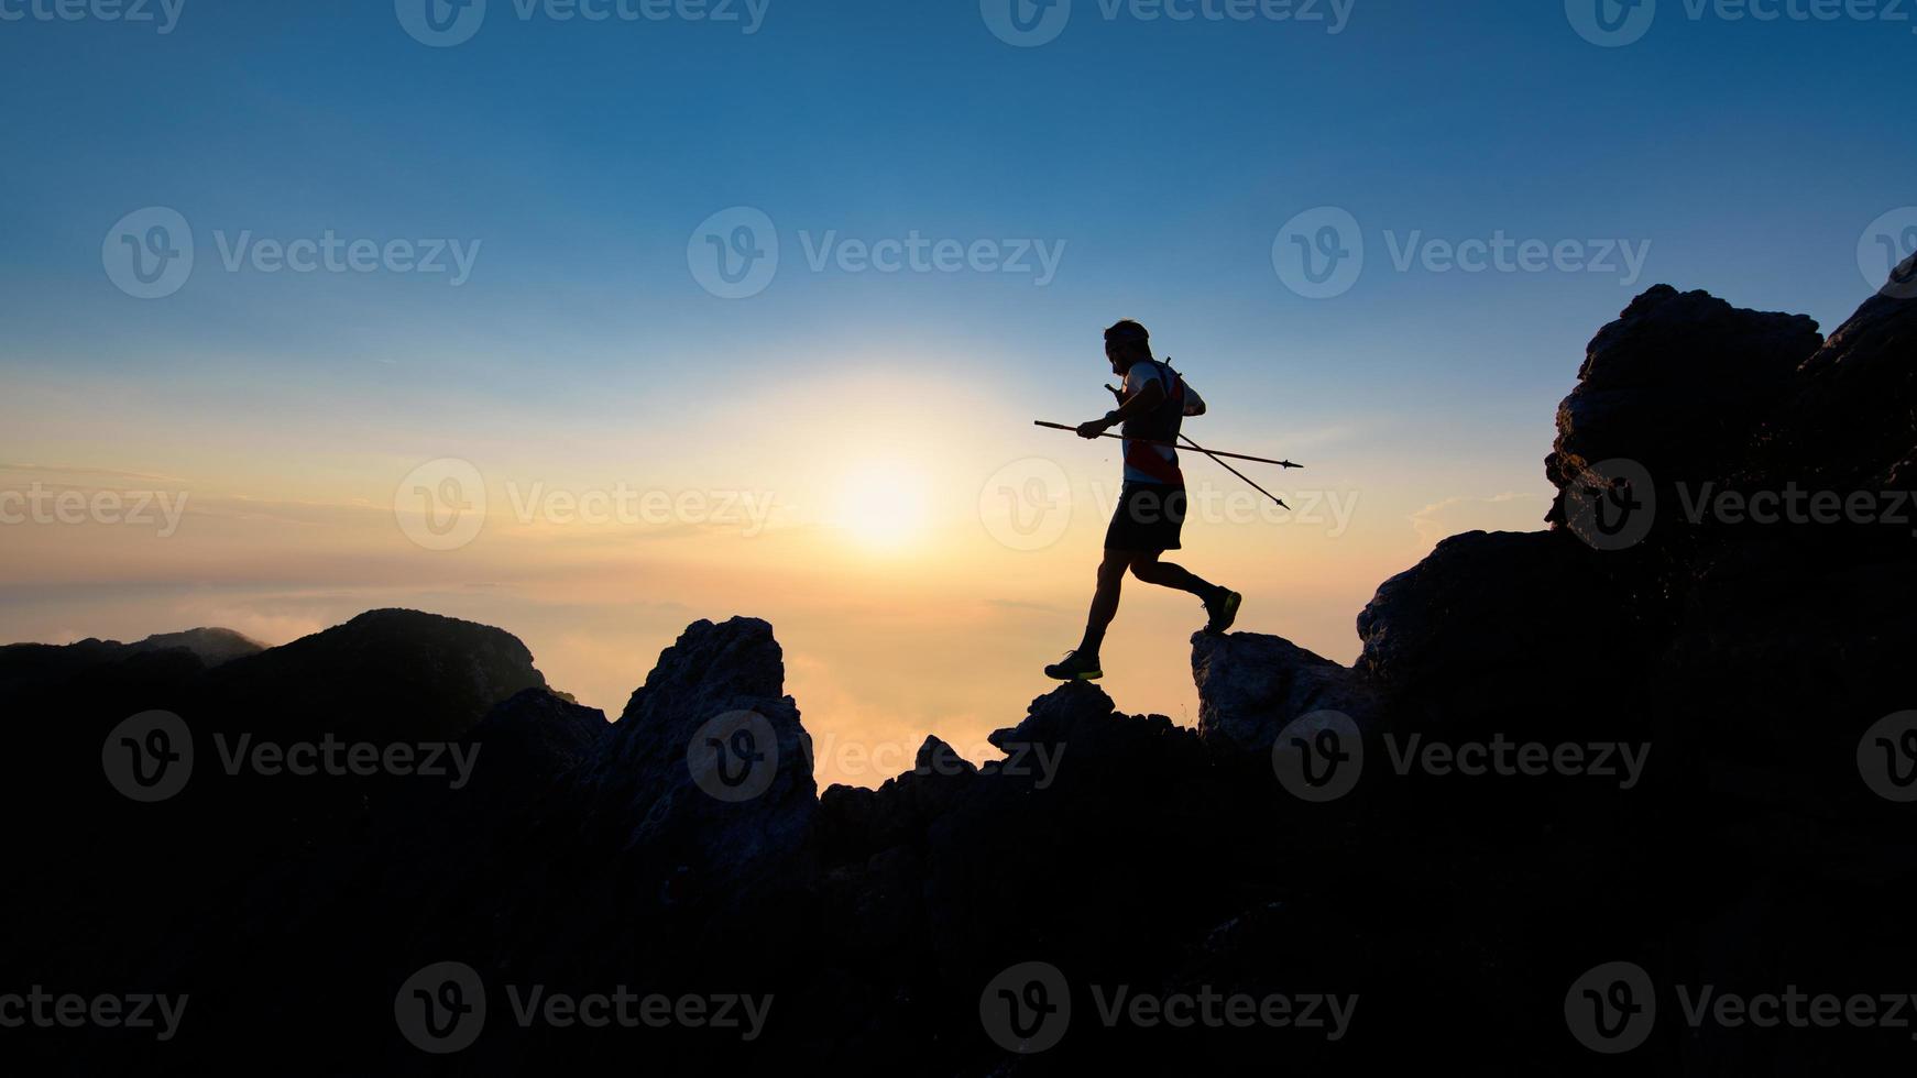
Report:
[[[1072,684],[991,737],[1003,760],[972,766],[928,737],[880,789],[817,793],[780,645],[757,618],[688,626],[613,724],[554,693],[512,636],[412,611],[272,649],[220,630],[4,649],[0,758],[21,842],[0,915],[21,931],[0,969],[19,984],[194,994],[167,1045],[10,1047],[73,1074],[230,1061],[1536,1074],[1606,1065],[1564,1017],[1568,986],[1605,961],[1739,992],[1907,990],[1909,804],[1859,775],[1859,739],[1913,707],[1911,525],[1693,521],[1685,505],[1704,484],[1746,500],[1907,494],[1913,379],[1913,301],[1871,299],[1823,339],[1806,318],[1658,285],[1599,331],[1559,408],[1551,530],[1438,544],[1359,615],[1353,666],[1275,636],[1196,636],[1196,730]],[[1614,488],[1620,460],[1656,513],[1591,532],[1580,513]],[[151,708],[192,730],[194,775],[136,804],[102,775],[102,745]],[[1363,737],[1363,777],[1311,802],[1273,749],[1327,710]],[[450,739],[477,754],[456,789],[226,775],[215,739],[242,733]],[[1585,774],[1397,774],[1411,737],[1651,749],[1620,789]],[[481,1040],[435,1057],[393,1024],[395,990],[435,961],[491,986],[776,1003],[767,1034],[742,1042],[518,1028],[495,996]],[[1075,986],[1070,1032],[1031,1057],[980,1024],[983,986],[1022,961]],[[1338,1042],[1106,1028],[1093,984],[1361,1003]],[[1785,1074],[1909,1051],[1896,1030],[1771,1032],[1689,1030],[1666,998],[1624,1059]]]

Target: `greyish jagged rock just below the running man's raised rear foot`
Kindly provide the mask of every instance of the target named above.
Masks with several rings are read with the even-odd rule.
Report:
[[[1378,691],[1365,674],[1256,632],[1192,634],[1198,733],[1219,749],[1263,751],[1290,720],[1342,710],[1376,724]]]

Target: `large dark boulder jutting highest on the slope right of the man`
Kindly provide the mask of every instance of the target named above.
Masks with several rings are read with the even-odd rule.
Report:
[[[1645,291],[1597,331],[1578,387],[1559,404],[1545,458],[1559,496],[1547,521],[1566,521],[1566,486],[1608,484],[1593,471],[1608,460],[1635,461],[1658,488],[1723,481],[1821,345],[1802,314],[1739,310],[1670,285]]]

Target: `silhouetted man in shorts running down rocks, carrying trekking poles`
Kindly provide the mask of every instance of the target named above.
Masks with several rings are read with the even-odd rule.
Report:
[[[1085,640],[1062,663],[1045,668],[1047,678],[1060,682],[1093,682],[1104,676],[1098,647],[1118,615],[1118,594],[1127,569],[1146,584],[1198,595],[1208,615],[1206,632],[1231,628],[1238,603],[1244,601],[1244,595],[1229,588],[1208,584],[1158,559],[1167,550],[1179,550],[1185,527],[1185,475],[1179,473],[1179,454],[1171,446],[1179,440],[1179,425],[1187,415],[1204,415],[1204,400],[1185,385],[1179,371],[1152,358],[1150,333],[1129,318],[1104,331],[1104,358],[1125,379],[1120,406],[1102,419],[1079,423],[1077,433],[1081,438],[1097,438],[1123,425],[1125,483],[1104,532],[1104,561],[1098,565],[1098,590],[1085,618]]]

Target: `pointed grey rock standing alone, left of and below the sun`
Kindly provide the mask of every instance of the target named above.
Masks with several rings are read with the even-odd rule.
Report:
[[[763,875],[807,846],[811,735],[784,682],[784,653],[759,618],[692,622],[659,653],[589,775],[629,848],[704,883]]]

